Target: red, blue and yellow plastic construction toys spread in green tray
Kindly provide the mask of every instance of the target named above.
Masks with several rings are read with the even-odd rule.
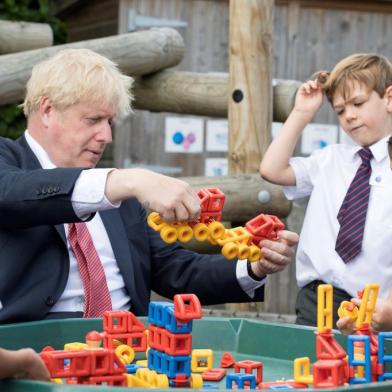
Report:
[[[295,359],[292,380],[265,381],[263,362],[236,361],[230,352],[214,368],[212,349],[192,348],[192,322],[202,317],[193,294],[176,295],[173,303],[151,302],[148,328],[131,312],[105,312],[103,332],[90,331],[86,343],[67,343],[64,350],[45,347],[40,355],[53,381],[67,384],[217,389],[225,377],[227,389],[281,390],[385,381],[392,379],[392,355],[385,352],[392,333],[376,337],[369,327],[377,293],[378,285],[367,285],[359,309],[341,305],[341,316],[356,318],[347,355],[332,331],[332,286],[318,287],[317,361],[311,366],[309,357]]]

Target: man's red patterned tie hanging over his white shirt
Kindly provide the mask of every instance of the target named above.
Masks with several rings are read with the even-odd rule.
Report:
[[[68,225],[68,241],[78,262],[84,289],[85,318],[102,317],[112,310],[105,271],[85,223]]]

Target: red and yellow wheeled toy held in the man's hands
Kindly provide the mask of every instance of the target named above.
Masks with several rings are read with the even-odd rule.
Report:
[[[224,193],[218,188],[202,188],[198,191],[201,214],[195,222],[168,223],[157,212],[147,218],[148,225],[159,231],[166,243],[175,241],[209,241],[222,247],[222,254],[227,259],[248,259],[257,261],[261,258],[259,243],[263,239],[276,240],[278,232],[285,225],[274,215],[260,214],[245,224],[232,229],[225,229],[222,210],[225,202]]]

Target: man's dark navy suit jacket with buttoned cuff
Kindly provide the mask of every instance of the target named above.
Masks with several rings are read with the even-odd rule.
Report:
[[[0,138],[0,323],[39,320],[60,298],[69,274],[64,223],[78,222],[71,195],[83,168],[42,169],[24,137]],[[202,305],[254,299],[236,279],[236,262],[164,243],[129,199],[100,213],[131,310],[146,315],[150,292],[195,293]]]

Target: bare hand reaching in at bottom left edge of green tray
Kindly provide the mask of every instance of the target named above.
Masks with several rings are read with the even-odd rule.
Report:
[[[0,379],[5,378],[50,381],[50,374],[31,348],[17,351],[0,349]]]

